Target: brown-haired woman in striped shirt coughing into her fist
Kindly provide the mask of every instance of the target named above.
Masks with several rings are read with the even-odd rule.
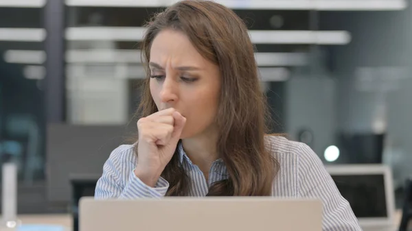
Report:
[[[315,197],[324,204],[324,230],[361,230],[307,145],[264,135],[253,45],[234,12],[181,1],[148,23],[141,49],[148,77],[138,141],[108,158],[97,199]]]

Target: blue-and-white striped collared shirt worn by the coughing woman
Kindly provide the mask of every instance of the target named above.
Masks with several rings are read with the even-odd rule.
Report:
[[[323,230],[361,230],[350,204],[337,189],[320,158],[303,143],[288,141],[281,136],[267,136],[273,156],[280,164],[273,182],[273,197],[316,198],[323,202]],[[227,169],[222,160],[216,160],[209,170],[206,182],[203,172],[190,161],[182,147],[179,158],[192,180],[190,196],[207,195],[209,186],[227,178]],[[169,183],[159,178],[154,188],[147,186],[133,173],[137,158],[133,145],[121,145],[104,163],[103,175],[95,189],[96,199],[136,199],[163,197]]]

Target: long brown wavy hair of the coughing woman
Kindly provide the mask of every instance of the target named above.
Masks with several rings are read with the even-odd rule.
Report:
[[[278,163],[264,144],[268,111],[260,89],[254,47],[244,21],[232,10],[213,1],[180,1],[152,17],[141,43],[146,69],[137,117],[157,112],[150,95],[150,47],[163,29],[184,33],[207,60],[218,64],[221,90],[216,114],[217,151],[229,178],[215,182],[209,196],[271,195]],[[185,196],[190,178],[179,162],[176,148],[161,176],[168,180],[168,196]],[[135,149],[137,154],[137,148]]]

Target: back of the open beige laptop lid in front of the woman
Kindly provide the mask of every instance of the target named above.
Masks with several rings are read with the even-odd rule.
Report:
[[[81,231],[321,231],[321,201],[273,197],[80,199]]]

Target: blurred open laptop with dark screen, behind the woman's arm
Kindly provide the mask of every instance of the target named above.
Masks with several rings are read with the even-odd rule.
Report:
[[[363,230],[396,230],[391,169],[386,165],[326,166]]]

